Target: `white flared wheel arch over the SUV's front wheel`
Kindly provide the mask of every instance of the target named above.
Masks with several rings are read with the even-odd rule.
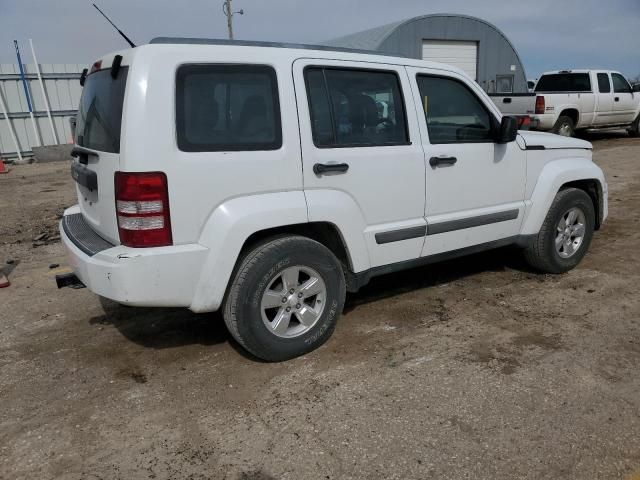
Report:
[[[607,182],[600,167],[585,158],[552,160],[538,175],[531,198],[526,202],[522,234],[537,234],[560,188],[566,183],[577,180],[596,180],[600,184],[603,202],[602,220],[604,220],[607,215]]]

